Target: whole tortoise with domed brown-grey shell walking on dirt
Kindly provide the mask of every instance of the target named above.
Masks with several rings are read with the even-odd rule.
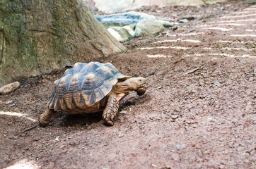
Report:
[[[144,77],[122,75],[111,63],[75,63],[54,82],[47,110],[39,118],[45,127],[57,111],[70,114],[103,111],[105,124],[114,125],[119,115],[119,101],[135,91],[139,96],[146,92]]]

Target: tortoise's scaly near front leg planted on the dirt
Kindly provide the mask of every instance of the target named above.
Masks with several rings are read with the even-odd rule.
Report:
[[[114,120],[119,115],[119,102],[114,95],[110,95],[107,99],[107,106],[103,111],[103,120],[105,124],[114,125]]]

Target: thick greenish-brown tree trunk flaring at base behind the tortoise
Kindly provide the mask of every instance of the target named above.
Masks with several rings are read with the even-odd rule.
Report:
[[[0,1],[0,87],[125,50],[81,0]]]

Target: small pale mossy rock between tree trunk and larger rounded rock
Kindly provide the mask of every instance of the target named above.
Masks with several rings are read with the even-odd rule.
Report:
[[[132,39],[132,35],[124,27],[110,27],[107,30],[119,42],[127,42]]]

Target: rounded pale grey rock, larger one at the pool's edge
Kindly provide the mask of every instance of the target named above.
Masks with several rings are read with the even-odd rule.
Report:
[[[135,37],[154,37],[164,31],[165,27],[156,19],[144,19],[136,24]]]

